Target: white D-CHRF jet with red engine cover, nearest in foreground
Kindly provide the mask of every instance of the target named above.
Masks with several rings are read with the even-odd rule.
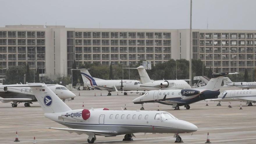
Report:
[[[134,133],[191,133],[198,127],[190,122],[179,120],[165,111],[124,111],[109,109],[70,109],[47,86],[42,83],[29,83],[38,99],[45,117],[69,128],[56,130],[87,134],[88,143],[94,143],[96,135],[117,136],[125,134],[123,141],[131,141]]]

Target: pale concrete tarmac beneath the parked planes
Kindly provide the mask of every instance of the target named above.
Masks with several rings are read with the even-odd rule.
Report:
[[[221,92],[232,88],[221,88]],[[112,92],[112,96],[106,96],[107,91],[80,90],[73,91],[77,95],[74,100],[66,101],[71,109],[109,108],[121,110],[125,104],[128,110],[138,110],[139,104],[131,101],[139,94]],[[80,96],[78,96],[80,93]],[[100,96],[102,93],[102,96]],[[96,96],[94,96],[96,94]],[[84,107],[82,104],[84,102]],[[190,134],[180,134],[184,143],[205,143],[207,132],[211,143],[255,143],[256,141],[256,106],[247,106],[241,102],[243,109],[239,110],[240,102],[232,102],[233,108],[228,108],[228,102],[221,102],[222,106],[216,106],[218,102],[201,101],[191,104],[191,109],[173,110],[171,106],[159,103],[144,104],[145,110],[167,111],[175,117],[189,121],[198,126],[198,131]],[[87,135],[69,134],[66,131],[48,129],[49,127],[66,128],[44,117],[44,113],[35,102],[31,107],[24,107],[24,103],[13,108],[10,103],[0,103],[0,144],[21,143],[32,144],[33,137],[37,144],[83,144],[87,143]],[[18,131],[19,141],[15,140],[15,132]],[[122,141],[124,135],[115,137],[97,136],[95,143],[174,143],[174,134],[135,134],[134,141]]]

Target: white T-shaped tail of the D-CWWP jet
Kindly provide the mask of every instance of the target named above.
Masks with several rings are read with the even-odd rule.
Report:
[[[213,73],[212,78],[206,86],[201,86],[196,89],[219,90],[224,76],[228,73]]]

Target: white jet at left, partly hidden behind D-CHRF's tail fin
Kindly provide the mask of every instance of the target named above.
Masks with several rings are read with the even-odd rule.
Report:
[[[13,87],[17,86],[17,87]],[[13,102],[12,107],[17,107],[17,103],[24,103],[24,106],[30,106],[32,102],[37,102],[35,95],[32,93],[30,87],[18,87],[18,86],[28,86],[21,84],[14,85],[0,85],[0,101],[3,103]],[[60,99],[65,101],[65,99],[73,100],[76,95],[68,90],[65,86],[61,85],[46,85],[48,86]]]

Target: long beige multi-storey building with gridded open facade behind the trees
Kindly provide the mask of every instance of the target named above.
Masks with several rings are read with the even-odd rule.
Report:
[[[241,72],[256,65],[256,31],[193,29],[193,58],[219,71]],[[87,29],[65,26],[8,25],[0,28],[0,77],[28,63],[40,74],[70,74],[74,60],[103,65],[153,65],[189,60],[189,29]]]

